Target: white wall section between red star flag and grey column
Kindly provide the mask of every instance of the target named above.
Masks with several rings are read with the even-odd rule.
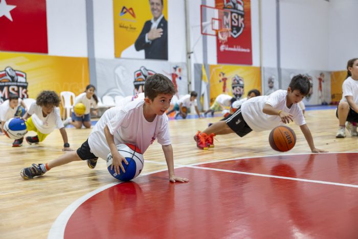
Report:
[[[85,0],[47,0],[49,55],[87,57]]]

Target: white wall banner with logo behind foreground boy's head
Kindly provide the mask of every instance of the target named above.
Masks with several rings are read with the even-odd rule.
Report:
[[[96,60],[97,94],[102,97],[109,95],[135,96],[144,92],[144,83],[148,76],[160,73],[174,83],[178,95],[188,94],[188,79],[184,62],[160,62],[156,60]]]

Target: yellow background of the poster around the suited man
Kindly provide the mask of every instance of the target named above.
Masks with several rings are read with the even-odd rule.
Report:
[[[156,0],[161,2],[161,0]],[[154,1],[154,2],[156,2]],[[135,41],[141,33],[144,23],[153,18],[149,0],[113,0],[115,56],[125,58],[139,57],[134,49]],[[167,0],[163,0],[163,15],[168,20]],[[125,50],[127,54],[122,56]]]

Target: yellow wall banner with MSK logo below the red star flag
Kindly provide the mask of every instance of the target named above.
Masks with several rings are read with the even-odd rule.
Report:
[[[0,53],[0,97],[36,98],[43,90],[83,92],[89,83],[86,57]]]

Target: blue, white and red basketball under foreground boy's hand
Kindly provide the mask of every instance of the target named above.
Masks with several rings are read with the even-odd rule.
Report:
[[[115,168],[110,169],[112,164],[112,155],[109,153],[106,161],[107,169],[110,175],[121,181],[129,181],[136,178],[139,173],[141,173],[144,165],[144,159],[141,150],[132,144],[119,144],[117,145],[117,150],[119,154],[127,160],[128,165],[122,161],[125,172],[123,172],[120,168],[120,174],[117,174]]]

